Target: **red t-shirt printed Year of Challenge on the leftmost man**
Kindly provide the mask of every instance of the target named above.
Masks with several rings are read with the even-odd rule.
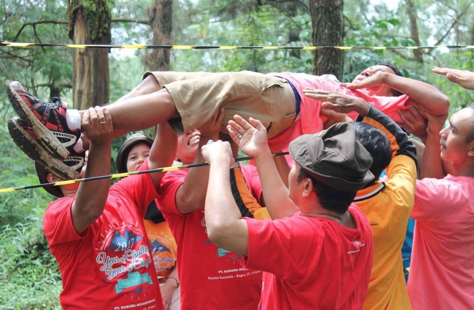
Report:
[[[163,309],[143,227],[146,210],[138,207],[148,206],[156,195],[149,174],[115,183],[102,215],[82,234],[72,223],[75,198],[60,198],[48,206],[43,227],[63,279],[63,308]]]

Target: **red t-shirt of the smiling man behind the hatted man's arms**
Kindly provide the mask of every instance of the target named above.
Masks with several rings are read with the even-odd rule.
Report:
[[[261,185],[253,166],[242,166],[242,174],[254,197]],[[187,170],[169,171],[162,180],[157,204],[178,245],[178,274],[181,283],[181,309],[257,308],[262,272],[243,267],[242,255],[218,248],[206,233],[204,206],[187,215],[175,203],[178,188]]]

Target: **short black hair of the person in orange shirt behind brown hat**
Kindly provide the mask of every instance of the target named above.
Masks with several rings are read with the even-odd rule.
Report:
[[[372,156],[372,166],[369,170],[375,176],[375,179],[366,185],[367,187],[374,184],[390,164],[392,160],[390,141],[385,133],[370,124],[353,122],[352,125],[357,139]]]

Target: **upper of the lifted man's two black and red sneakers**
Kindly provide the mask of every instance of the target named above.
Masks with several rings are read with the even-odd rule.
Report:
[[[66,122],[67,105],[59,97],[44,102],[30,94],[17,81],[8,84],[8,97],[18,116],[35,132],[40,143],[53,157],[64,160],[81,136],[80,130],[71,130]]]

